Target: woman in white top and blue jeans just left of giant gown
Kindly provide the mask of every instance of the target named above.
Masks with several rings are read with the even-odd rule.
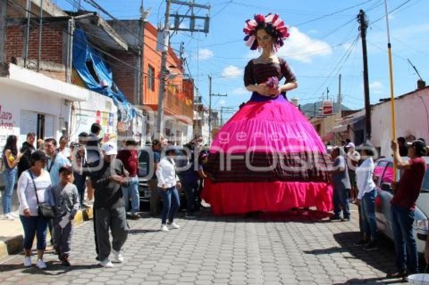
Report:
[[[176,163],[174,157],[176,150],[168,148],[163,157],[156,167],[156,177],[158,178],[158,191],[163,195],[163,213],[161,222],[161,231],[168,231],[167,218],[169,218],[168,225],[173,229],[180,227],[174,223],[174,217],[180,206],[179,193],[177,188],[181,188],[179,177],[176,175]],[[177,188],[176,188],[177,187]]]

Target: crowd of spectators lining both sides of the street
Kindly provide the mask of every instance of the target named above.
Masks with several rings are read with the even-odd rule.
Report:
[[[13,221],[19,218],[22,223],[25,267],[32,266],[31,248],[36,237],[36,265],[46,268],[43,253],[47,231],[60,262],[70,266],[73,220],[79,208],[90,204],[93,204],[96,259],[104,267],[114,266],[111,255],[113,261],[123,262],[121,249],[129,231],[127,212],[131,219],[140,218],[139,177],[147,178],[149,212],[152,217],[160,215],[160,231],[180,228],[175,218],[182,190],[186,218],[195,218],[201,207],[203,181],[207,178],[204,172],[207,152],[202,147],[201,136],[196,136],[180,149],[164,138],[154,139],[146,148],[138,147],[134,139],[127,139],[122,141],[118,151],[116,141],[102,142],[100,131],[101,126],[94,123],[89,134],[79,134],[77,142],[69,143],[66,136],[62,136],[58,143],[54,138],[39,139],[36,148],[35,134],[28,133],[19,150],[17,137],[8,136],[2,155],[3,219]],[[389,273],[388,277],[405,277],[418,272],[413,223],[416,200],[426,172],[422,157],[427,155],[427,148],[424,139],[406,142],[399,137],[392,141],[391,149],[393,162],[403,173],[399,181],[391,185],[397,271]],[[330,220],[350,221],[349,203],[356,203],[361,239],[355,246],[362,246],[367,251],[376,250],[376,149],[369,142],[356,147],[348,140],[344,141],[343,147],[332,148],[330,153],[334,209]],[[11,206],[17,178],[19,215],[12,212]],[[161,198],[162,211],[159,209]],[[425,258],[429,262],[429,246]]]

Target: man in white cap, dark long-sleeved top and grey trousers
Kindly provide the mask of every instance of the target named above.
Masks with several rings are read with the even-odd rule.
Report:
[[[113,267],[109,259],[111,250],[114,261],[123,262],[120,251],[128,236],[128,224],[123,201],[122,187],[129,186],[128,172],[124,164],[116,159],[117,147],[112,141],[101,146],[102,160],[98,170],[91,172],[91,182],[95,190],[95,226],[100,265]],[[112,232],[112,244],[109,240]]]

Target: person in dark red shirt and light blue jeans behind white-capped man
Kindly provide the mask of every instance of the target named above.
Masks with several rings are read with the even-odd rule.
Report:
[[[140,194],[138,192],[138,155],[137,155],[137,142],[133,139],[127,140],[125,148],[118,152],[116,157],[124,164],[125,169],[129,172],[131,179],[130,185],[122,187],[124,196],[125,210],[129,210],[129,199],[131,197],[131,219],[137,220],[140,218],[138,215],[140,208]]]

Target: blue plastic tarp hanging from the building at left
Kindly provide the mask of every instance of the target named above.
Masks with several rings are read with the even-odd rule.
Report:
[[[99,81],[95,80],[89,72],[86,65],[88,61],[92,63]],[[128,102],[121,90],[118,88],[115,91],[112,90],[114,84],[112,70],[101,54],[88,44],[85,32],[80,29],[75,29],[74,32],[73,67],[81,77],[86,88],[113,99],[115,105],[118,107],[119,121],[129,122],[136,115],[136,109]],[[107,86],[102,87],[101,82],[105,82]]]

